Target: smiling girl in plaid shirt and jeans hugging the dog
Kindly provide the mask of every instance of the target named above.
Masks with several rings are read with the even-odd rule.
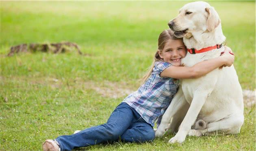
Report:
[[[186,55],[182,39],[176,38],[171,30],[164,30],[158,38],[158,51],[144,83],[115,108],[105,124],[46,140],[43,150],[66,151],[119,139],[124,142],[154,140],[154,122],[163,115],[177,92],[175,79],[197,78],[218,67],[231,66],[234,56],[226,51],[230,49],[225,47],[220,57],[192,67],[180,66]]]

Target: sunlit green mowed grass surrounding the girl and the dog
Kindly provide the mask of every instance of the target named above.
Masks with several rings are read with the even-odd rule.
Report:
[[[160,32],[187,2],[0,2],[0,150],[40,150],[45,139],[106,122],[124,99],[87,81],[126,83],[136,90],[152,63]],[[255,89],[255,2],[209,2],[215,7],[243,89]],[[24,53],[12,45],[71,41],[78,53]],[[7,98],[7,99],[6,99]],[[237,135],[173,135],[154,142],[96,145],[83,150],[255,150],[255,107],[245,108]]]

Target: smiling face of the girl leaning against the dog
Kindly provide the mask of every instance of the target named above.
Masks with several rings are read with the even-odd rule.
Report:
[[[162,51],[158,50],[159,56],[174,66],[180,66],[181,59],[186,56],[186,48],[182,39],[172,40],[169,39]]]

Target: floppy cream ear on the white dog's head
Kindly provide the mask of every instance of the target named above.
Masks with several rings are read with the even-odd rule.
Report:
[[[216,27],[219,26],[221,20],[219,19],[219,15],[213,7],[206,7],[205,11],[208,13],[207,30],[212,32]]]

